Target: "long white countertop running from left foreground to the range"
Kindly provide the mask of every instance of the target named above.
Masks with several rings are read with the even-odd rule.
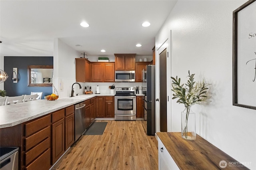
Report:
[[[36,100],[0,106],[0,128],[13,127],[95,96],[114,96],[114,94],[79,95],[59,98],[56,101]]]

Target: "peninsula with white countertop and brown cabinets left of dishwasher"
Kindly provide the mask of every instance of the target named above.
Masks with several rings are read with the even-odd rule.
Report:
[[[1,106],[0,146],[19,147],[20,170],[49,169],[74,143],[74,104],[96,96]]]

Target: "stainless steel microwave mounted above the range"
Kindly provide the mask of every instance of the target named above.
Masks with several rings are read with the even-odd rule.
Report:
[[[135,71],[116,71],[116,82],[135,82]]]

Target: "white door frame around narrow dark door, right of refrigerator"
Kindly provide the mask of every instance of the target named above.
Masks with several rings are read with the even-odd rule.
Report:
[[[166,83],[167,83],[167,132],[172,131],[172,91],[171,91],[171,49],[172,49],[172,43],[171,43],[171,35],[172,30],[170,30],[168,38],[159,45],[158,49],[156,49],[156,99],[160,98],[160,65],[159,65],[159,55],[166,49],[166,55],[168,57],[166,58]],[[160,132],[160,103],[156,101],[156,132]]]

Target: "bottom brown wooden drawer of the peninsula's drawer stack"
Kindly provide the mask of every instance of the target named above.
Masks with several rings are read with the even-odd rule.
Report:
[[[51,152],[50,148],[34,160],[26,170],[48,170],[51,167]]]

